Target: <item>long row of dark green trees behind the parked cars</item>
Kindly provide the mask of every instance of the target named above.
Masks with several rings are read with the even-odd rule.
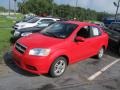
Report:
[[[73,19],[76,17],[78,20],[102,20],[107,13],[99,13],[91,9],[85,9],[81,7],[75,7],[70,5],[57,5],[54,0],[23,0],[22,3],[18,3],[18,9],[21,13],[34,13],[37,15],[47,14],[56,17]],[[53,13],[54,12],[54,13]]]

